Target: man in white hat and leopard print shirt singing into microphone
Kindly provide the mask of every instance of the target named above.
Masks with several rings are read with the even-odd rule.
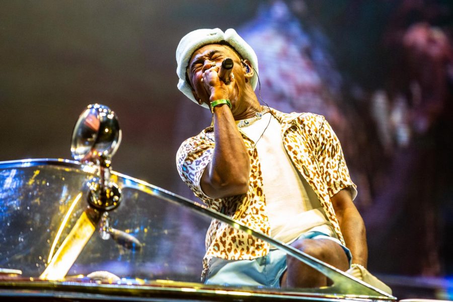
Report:
[[[234,62],[228,79],[219,77],[225,58]],[[261,106],[254,92],[256,54],[234,29],[188,33],[176,60],[179,90],[212,112],[211,126],[185,140],[176,157],[194,194],[340,270],[365,270],[365,228],[352,202],[356,187],[325,118]],[[328,285],[308,265],[217,220],[206,235],[203,267],[206,284]]]

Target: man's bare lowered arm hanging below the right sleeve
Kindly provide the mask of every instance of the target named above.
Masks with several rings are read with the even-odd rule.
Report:
[[[365,224],[352,202],[351,194],[343,189],[330,199],[335,209],[346,247],[351,251],[352,262],[366,267],[368,247],[366,245]]]

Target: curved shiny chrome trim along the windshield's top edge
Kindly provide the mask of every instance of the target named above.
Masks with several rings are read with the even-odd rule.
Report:
[[[79,162],[74,162],[70,160],[64,159],[28,159],[28,160],[18,160],[18,161],[7,161],[7,162],[0,162],[0,169],[8,169],[8,168],[20,168],[20,167],[35,167],[35,166],[64,166],[70,167],[75,169],[80,169],[82,171],[96,169],[94,166],[85,166]],[[88,168],[88,169],[87,169]],[[305,292],[323,292],[323,293],[331,293],[335,294],[336,297],[364,297],[364,298],[376,298],[376,299],[384,299],[384,300],[396,300],[397,298],[380,290],[374,288],[373,286],[356,279],[343,271],[336,269],[335,267],[326,264],[308,254],[305,254],[289,245],[286,245],[280,241],[277,241],[263,233],[256,232],[252,229],[249,229],[245,224],[235,221],[230,217],[219,213],[217,211],[211,210],[206,206],[203,206],[199,203],[196,203],[190,199],[185,197],[179,196],[174,194],[170,191],[164,190],[152,184],[149,184],[145,181],[127,176],[125,174],[121,174],[118,172],[112,171],[112,175],[116,175],[121,177],[124,182],[123,188],[133,188],[144,193],[150,194],[152,196],[159,197],[163,200],[167,200],[173,203],[180,204],[182,206],[188,207],[196,212],[199,212],[205,216],[210,218],[215,218],[219,221],[225,222],[233,228],[242,230],[247,234],[253,235],[259,239],[267,241],[268,243],[272,244],[273,246],[277,247],[280,250],[285,251],[287,254],[293,256],[294,258],[310,265],[311,267],[315,268],[316,270],[322,272],[324,275],[329,277],[334,284],[330,287],[324,288],[304,288]],[[137,185],[138,184],[138,185]]]

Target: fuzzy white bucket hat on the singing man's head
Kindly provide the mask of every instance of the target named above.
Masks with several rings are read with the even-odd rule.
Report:
[[[258,58],[256,57],[256,53],[234,29],[230,28],[225,32],[222,32],[218,28],[194,30],[185,35],[181,41],[179,41],[178,48],[176,48],[176,62],[178,63],[176,73],[179,78],[178,89],[197,104],[198,102],[193,97],[190,83],[187,83],[186,81],[186,70],[189,65],[189,60],[198,48],[208,44],[219,43],[220,41],[229,43],[242,58],[248,59],[252,63],[252,66],[255,69],[255,74],[250,81],[253,90],[255,90],[258,83]],[[209,108],[207,104],[202,104],[201,106]]]

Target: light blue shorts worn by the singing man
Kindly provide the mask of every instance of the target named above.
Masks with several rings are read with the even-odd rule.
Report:
[[[336,238],[321,232],[308,232],[297,239],[329,239],[338,243],[346,253],[351,266],[351,251]],[[280,278],[286,271],[286,253],[270,250],[266,256],[252,260],[225,260],[212,258],[206,273],[205,284],[224,286],[258,286],[280,288]]]

